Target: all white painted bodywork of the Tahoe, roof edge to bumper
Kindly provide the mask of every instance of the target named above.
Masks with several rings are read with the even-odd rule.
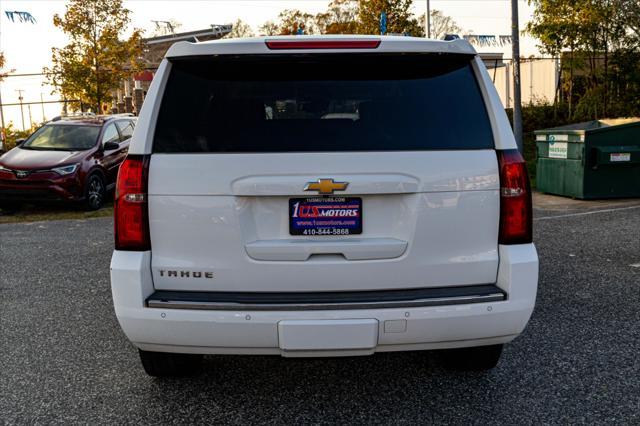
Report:
[[[295,37],[302,40],[305,37]],[[307,39],[315,39],[313,36]],[[324,38],[324,37],[323,37]],[[379,37],[336,36],[336,39]],[[380,37],[378,52],[475,54],[465,41]],[[283,38],[286,39],[286,38]],[[290,51],[291,52],[291,51]],[[349,50],[296,50],[295,53]],[[176,43],[167,57],[283,54],[264,38]],[[473,63],[496,149],[515,141],[482,61]],[[152,152],[171,64],[156,73],[131,154]],[[127,337],[150,351],[345,356],[505,343],[536,299],[533,244],[499,246],[494,150],[383,153],[179,154],[151,157],[152,252],[114,251],[111,283]],[[319,178],[349,182],[363,199],[362,235],[292,236],[288,199]],[[167,277],[198,270],[211,279]],[[147,308],[156,290],[349,291],[495,283],[500,302],[419,308],[215,311]]]

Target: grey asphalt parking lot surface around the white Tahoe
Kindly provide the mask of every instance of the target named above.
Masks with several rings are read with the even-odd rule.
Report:
[[[537,307],[487,374],[399,353],[216,356],[153,379],[113,313],[111,218],[2,224],[0,420],[638,423],[640,201],[536,205]]]

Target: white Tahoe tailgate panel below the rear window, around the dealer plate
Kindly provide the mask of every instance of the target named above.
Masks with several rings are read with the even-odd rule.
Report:
[[[324,176],[350,183],[340,196],[362,198],[361,235],[289,234],[289,198],[313,196],[305,184]],[[154,285],[277,292],[494,283],[498,185],[493,150],[153,155]]]

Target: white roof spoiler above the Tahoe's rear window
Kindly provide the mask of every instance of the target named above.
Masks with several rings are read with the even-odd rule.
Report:
[[[365,41],[380,40],[380,45],[375,49],[278,49],[267,47],[267,41]],[[198,55],[224,55],[224,54],[268,54],[268,53],[314,53],[314,52],[434,52],[457,53],[475,55],[473,46],[466,40],[431,40],[418,37],[403,36],[371,36],[371,35],[300,35],[300,36],[268,36],[253,38],[234,38],[212,40],[200,43],[181,41],[169,48],[165,57],[175,58],[181,56]]]

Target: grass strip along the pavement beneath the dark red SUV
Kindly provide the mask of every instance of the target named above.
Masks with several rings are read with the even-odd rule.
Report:
[[[113,216],[113,203],[100,210],[86,211],[78,206],[21,204],[11,211],[0,209],[0,223],[40,222],[48,220],[91,219]]]

